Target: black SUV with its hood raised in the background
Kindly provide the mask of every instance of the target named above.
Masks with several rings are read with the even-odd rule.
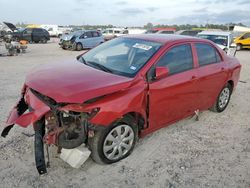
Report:
[[[42,42],[47,43],[50,40],[48,31],[42,28],[23,28],[17,29],[15,25],[4,22],[13,32],[11,35],[16,40],[27,40],[29,42]]]

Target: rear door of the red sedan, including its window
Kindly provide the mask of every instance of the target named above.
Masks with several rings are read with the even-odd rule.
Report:
[[[227,81],[227,66],[218,50],[209,43],[195,43],[199,68],[197,74],[199,109],[210,108]]]

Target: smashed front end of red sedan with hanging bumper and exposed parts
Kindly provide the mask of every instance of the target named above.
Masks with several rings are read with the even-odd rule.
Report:
[[[84,111],[82,107],[73,111],[72,104],[57,103],[52,98],[24,86],[22,96],[10,112],[1,136],[6,137],[14,124],[22,127],[33,124],[36,167],[39,174],[44,174],[47,172],[44,144],[56,145],[60,153],[62,148],[73,149],[87,143],[88,135],[93,136],[94,129],[89,120],[98,111],[98,108]]]

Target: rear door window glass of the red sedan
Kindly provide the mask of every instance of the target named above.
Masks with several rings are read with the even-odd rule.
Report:
[[[209,44],[197,43],[195,44],[198,61],[200,66],[205,66],[221,61],[221,57],[217,50]]]

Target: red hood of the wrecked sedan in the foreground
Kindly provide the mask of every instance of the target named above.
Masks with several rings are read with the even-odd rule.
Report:
[[[75,60],[39,66],[27,75],[25,84],[57,102],[83,103],[125,89],[131,81]]]

